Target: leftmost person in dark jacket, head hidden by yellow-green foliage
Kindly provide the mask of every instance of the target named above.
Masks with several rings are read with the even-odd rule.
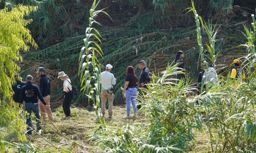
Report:
[[[26,84],[26,82],[22,81],[22,77],[20,77],[20,74],[15,74],[14,79],[16,82],[12,85],[12,90],[14,92],[13,101],[16,104],[19,104],[20,90],[21,90],[21,87]],[[23,108],[23,110],[25,110],[25,107]]]

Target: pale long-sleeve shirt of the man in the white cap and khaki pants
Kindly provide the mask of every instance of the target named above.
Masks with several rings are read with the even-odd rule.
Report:
[[[109,71],[101,72],[100,74],[101,90],[109,90],[116,84],[115,77]]]

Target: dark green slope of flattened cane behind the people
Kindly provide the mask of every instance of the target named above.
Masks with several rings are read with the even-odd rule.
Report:
[[[209,5],[208,7],[211,7],[210,3],[206,4]],[[235,4],[247,5],[248,8],[231,7],[229,8],[231,13],[227,14],[220,10],[214,11],[214,9],[212,12],[204,9],[201,10],[204,4],[201,2],[195,3],[198,10],[201,10],[199,12],[200,15],[204,17],[206,21],[209,18],[209,14],[211,14],[211,18],[209,18],[209,22],[207,21],[207,23],[216,24],[218,28],[215,47],[216,52],[219,52],[216,64],[222,65],[220,68],[222,68],[223,65],[229,68],[234,59],[246,54],[245,48],[238,48],[237,46],[244,44],[246,41],[241,33],[244,31],[243,23],[250,24],[250,13],[254,12],[254,10],[250,8],[254,6],[252,5],[253,3],[250,2],[247,4],[234,2],[234,5]],[[46,37],[44,38],[45,40],[41,41],[39,38],[42,37],[36,37],[38,34],[35,33],[38,32],[33,32],[33,30],[37,28],[32,27],[32,34],[35,35],[35,39],[38,41],[41,49],[32,50],[29,53],[22,53],[24,62],[20,64],[22,76],[25,77],[27,74],[33,75],[35,78],[34,81],[37,84],[39,79],[35,71],[40,66],[46,67],[46,73],[51,77],[53,83],[53,108],[60,106],[60,101],[62,100],[62,94],[60,92],[62,85],[61,81],[57,79],[59,71],[65,71],[71,77],[72,82],[74,82],[77,87],[80,86],[77,75],[78,57],[83,45],[82,40],[85,38],[84,32],[88,24],[88,11],[86,10],[89,10],[88,7],[90,7],[90,3],[80,1],[78,4],[72,3],[72,5],[63,6],[66,6],[65,9],[72,12],[70,14],[63,14],[69,16],[65,18],[70,18],[70,21],[67,21],[63,26],[69,25],[71,29],[61,32],[67,36],[63,37],[60,33],[56,33],[55,36],[59,36],[58,38],[52,35],[46,35],[44,36]],[[191,3],[185,3],[183,1],[181,3],[173,2],[168,4],[164,10],[160,9],[161,7],[154,10],[154,8],[149,6],[149,1],[145,1],[142,4],[140,1],[136,0],[134,3],[128,3],[126,1],[101,1],[99,3],[99,7],[107,7],[105,11],[108,12],[113,19],[112,22],[105,14],[99,14],[96,17],[96,21],[101,23],[102,27],[99,25],[94,26],[99,30],[103,38],[102,44],[100,45],[103,50],[103,57],[99,57],[99,60],[102,70],[105,69],[107,63],[111,63],[114,66],[112,72],[118,80],[116,89],[120,89],[123,85],[127,66],[134,66],[136,74],[139,75],[140,71],[137,68],[137,62],[143,59],[147,61],[148,67],[153,74],[159,74],[159,72],[165,69],[168,62],[172,63],[174,61],[175,54],[178,50],[182,50],[185,53],[185,67],[188,76],[191,77],[193,82],[196,81],[197,74],[200,71],[197,63],[199,53],[196,40],[196,26],[193,22],[194,16],[184,10],[190,7]],[[230,7],[230,5],[228,6]],[[246,15],[243,16],[243,13],[246,13]],[[55,13],[51,15],[54,14]],[[65,18],[62,18],[62,20]],[[34,22],[32,25],[35,25]],[[58,20],[53,21],[52,24],[55,22],[58,22]],[[60,23],[61,22],[58,22],[58,24]],[[46,31],[50,32],[50,30],[55,28],[65,30],[63,26],[58,26],[58,24],[52,25],[50,28],[47,28],[49,30]],[[71,31],[74,31],[74,29],[72,29],[74,27],[78,27],[79,29],[75,34],[71,33]],[[42,29],[39,31],[41,30]],[[40,45],[40,43],[48,39],[51,41]],[[202,41],[203,44],[207,44],[208,39],[206,33],[202,33]],[[225,68],[217,71],[219,74],[225,76],[228,72],[227,70],[228,69]],[[86,99],[82,93],[75,97],[73,102],[79,102],[85,107],[89,103],[88,99]],[[114,102],[115,105],[123,104],[124,101],[121,98],[121,90],[116,91]]]

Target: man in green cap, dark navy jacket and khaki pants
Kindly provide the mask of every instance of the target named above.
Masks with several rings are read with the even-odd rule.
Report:
[[[40,111],[41,117],[43,118],[43,122],[46,122],[46,113],[47,113],[48,119],[53,122],[52,110],[50,109],[50,78],[45,74],[44,67],[39,67],[36,73],[38,73],[38,75],[41,77],[39,90],[42,94],[43,99],[46,102],[46,108],[45,108],[45,105],[43,105],[42,101],[39,100],[39,111]]]

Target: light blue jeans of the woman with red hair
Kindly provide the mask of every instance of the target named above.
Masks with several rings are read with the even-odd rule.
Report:
[[[138,91],[137,91],[136,87],[128,88],[125,91],[127,116],[130,116],[131,103],[132,103],[132,106],[133,106],[133,113],[135,114],[136,111],[137,111],[137,107],[136,107],[136,104],[135,104],[135,99],[137,97],[137,93],[138,93]]]

